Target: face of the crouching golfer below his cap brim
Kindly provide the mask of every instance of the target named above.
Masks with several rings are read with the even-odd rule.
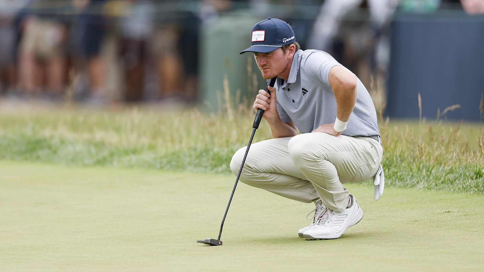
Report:
[[[253,54],[264,79],[279,76],[286,69],[290,69],[290,54],[288,51],[284,54],[280,47],[269,53],[254,52]]]

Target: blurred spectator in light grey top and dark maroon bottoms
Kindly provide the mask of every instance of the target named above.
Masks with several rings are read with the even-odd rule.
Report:
[[[146,69],[147,42],[153,29],[153,5],[147,0],[127,0],[125,14],[121,15],[120,46],[127,102],[140,101],[143,96]]]

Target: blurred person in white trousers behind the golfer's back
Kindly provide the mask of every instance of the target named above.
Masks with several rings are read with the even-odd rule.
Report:
[[[314,23],[308,42],[309,48],[334,51],[334,56],[339,56],[339,61],[348,69],[356,71],[368,88],[373,88],[370,86],[372,78],[378,81],[380,87],[384,86],[390,61],[388,27],[398,2],[399,0],[326,0]],[[350,27],[340,29],[344,16],[362,4],[366,4],[369,9],[369,25],[362,24],[361,21],[357,24],[347,22]]]

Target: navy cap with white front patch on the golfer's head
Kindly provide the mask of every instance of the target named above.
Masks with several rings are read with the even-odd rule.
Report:
[[[269,53],[294,42],[294,30],[283,20],[267,18],[252,28],[252,46],[240,52]]]

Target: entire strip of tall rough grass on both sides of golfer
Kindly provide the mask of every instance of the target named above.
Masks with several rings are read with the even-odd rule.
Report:
[[[0,159],[229,173],[254,120],[246,106],[229,112],[3,104]],[[484,193],[483,125],[387,119],[379,126],[387,186]],[[262,121],[254,141],[270,137]]]

